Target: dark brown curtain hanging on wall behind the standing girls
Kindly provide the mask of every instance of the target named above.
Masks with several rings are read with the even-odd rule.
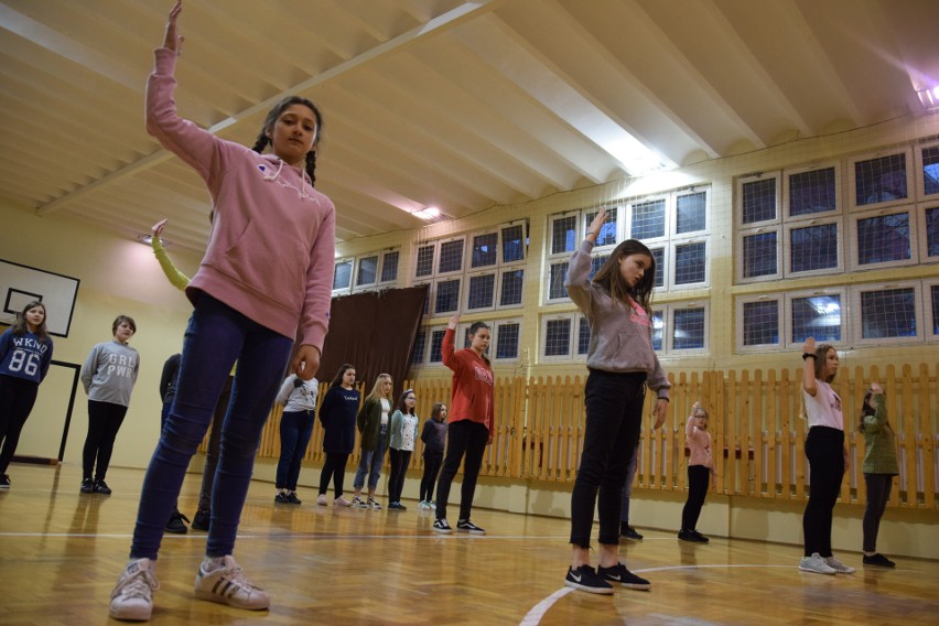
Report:
[[[411,368],[428,291],[422,284],[334,298],[316,378],[328,382],[349,363],[367,395],[379,374],[390,374],[397,401]]]

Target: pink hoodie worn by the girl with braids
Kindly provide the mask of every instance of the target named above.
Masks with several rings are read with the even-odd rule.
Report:
[[[273,154],[219,139],[180,118],[176,54],[155,52],[147,83],[147,130],[192,165],[212,195],[208,247],[186,288],[248,319],[323,349],[330,319],[336,209],[306,173]]]

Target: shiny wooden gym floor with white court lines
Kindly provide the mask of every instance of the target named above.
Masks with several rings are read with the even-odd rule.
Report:
[[[112,468],[109,497],[79,494],[76,465],[14,463],[9,473],[12,488],[0,490],[0,624],[117,624],[108,598],[126,562],[143,472]],[[183,487],[187,516],[198,481],[190,474]],[[190,531],[163,541],[152,624],[911,626],[937,624],[939,615],[935,561],[898,558],[889,571],[842,552],[857,573],[825,576],[796,569],[798,547],[721,538],[701,546],[639,529],[646,539],[624,551],[652,590],[596,596],[563,586],[564,519],[476,510],[487,536],[443,537],[414,501],[403,512],[366,511],[316,506],[309,488],[301,506],[274,506],[273,495],[269,483],[251,485],[235,554],[270,592],[270,611],[195,600],[205,533]]]

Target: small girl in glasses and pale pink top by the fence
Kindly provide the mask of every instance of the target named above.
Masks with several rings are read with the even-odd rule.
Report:
[[[714,456],[711,454],[711,434],[708,432],[708,411],[701,402],[691,407],[691,415],[684,425],[684,436],[691,456],[688,458],[688,501],[681,511],[681,530],[678,538],[682,541],[708,543],[709,539],[698,532],[698,517],[704,498],[708,496],[708,478],[712,485],[717,482],[714,470]]]

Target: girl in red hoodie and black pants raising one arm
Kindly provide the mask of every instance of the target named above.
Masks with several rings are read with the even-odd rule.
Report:
[[[489,366],[489,357],[486,356],[490,333],[486,324],[476,322],[470,326],[470,347],[455,352],[454,337],[458,323],[460,315],[451,317],[441,347],[443,365],[453,370],[453,400],[450,403],[446,457],[436,487],[436,520],[433,522],[433,529],[444,535],[453,532],[446,521],[446,500],[450,498],[450,485],[465,455],[456,530],[485,535],[485,530],[470,521],[470,510],[473,508],[483,453],[486,452],[486,445],[493,443],[493,434],[496,432],[493,368]]]

